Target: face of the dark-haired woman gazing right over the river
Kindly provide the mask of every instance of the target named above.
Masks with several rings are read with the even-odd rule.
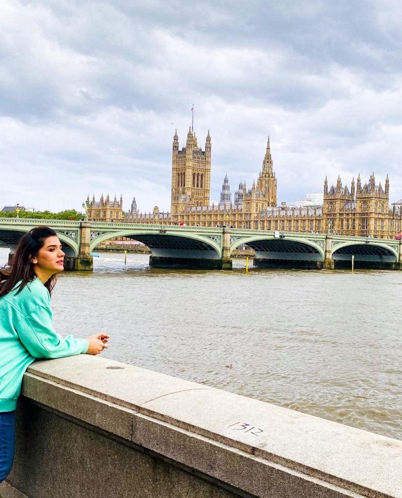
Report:
[[[64,252],[57,236],[47,237],[37,255],[31,258],[34,271],[45,283],[54,273],[64,270]]]

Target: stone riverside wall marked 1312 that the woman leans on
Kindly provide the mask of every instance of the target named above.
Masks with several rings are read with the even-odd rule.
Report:
[[[401,497],[402,442],[81,355],[35,362],[2,498]]]

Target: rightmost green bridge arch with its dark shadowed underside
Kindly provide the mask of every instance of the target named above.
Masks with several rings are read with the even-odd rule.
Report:
[[[336,245],[332,249],[335,268],[350,267],[352,255],[356,268],[397,268],[399,261],[398,248],[381,242],[355,241]]]

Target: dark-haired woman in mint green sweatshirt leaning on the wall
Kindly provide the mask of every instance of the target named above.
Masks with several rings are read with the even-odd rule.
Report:
[[[20,239],[11,268],[0,270],[0,483],[12,466],[15,407],[27,367],[37,358],[98,355],[107,348],[106,334],[75,339],[54,331],[50,295],[63,262],[56,232],[36,227]]]

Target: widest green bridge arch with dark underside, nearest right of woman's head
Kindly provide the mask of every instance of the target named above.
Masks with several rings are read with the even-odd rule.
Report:
[[[94,236],[95,235],[95,236]],[[98,244],[116,237],[127,237],[145,244],[154,257],[175,257],[190,259],[220,259],[222,249],[218,236],[202,236],[186,232],[186,227],[169,229],[165,225],[157,225],[150,231],[141,228],[130,230],[116,230],[113,232],[98,233],[91,231],[90,249],[93,251]]]

